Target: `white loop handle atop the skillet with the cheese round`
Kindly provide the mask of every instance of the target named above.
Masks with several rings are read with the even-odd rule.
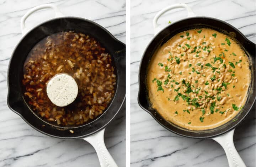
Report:
[[[22,31],[22,35],[24,36],[29,30],[26,28],[25,26],[25,21],[28,18],[28,16],[30,16],[32,13],[41,10],[41,9],[53,9],[55,12],[55,17],[62,17],[63,14],[58,10],[58,8],[55,5],[52,4],[44,4],[44,5],[39,5],[36,6],[34,8],[32,8],[31,10],[29,10],[24,16],[22,16],[21,18],[21,31]]]

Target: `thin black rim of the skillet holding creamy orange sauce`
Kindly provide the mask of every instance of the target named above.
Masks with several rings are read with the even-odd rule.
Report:
[[[148,43],[148,45],[146,46],[146,48],[145,48],[145,50],[144,50],[144,52],[143,52],[142,58],[140,59],[140,65],[139,65],[139,71],[138,71],[138,85],[139,85],[139,87],[138,87],[138,97],[137,97],[137,101],[138,101],[139,106],[140,106],[144,111],[146,111],[147,113],[149,113],[149,114],[151,115],[151,117],[153,117],[153,118],[156,120],[156,122],[158,122],[158,124],[160,124],[160,125],[161,125],[162,127],[164,127],[166,130],[169,130],[169,131],[171,131],[171,132],[174,133],[174,134],[177,134],[177,135],[180,135],[180,136],[183,136],[183,137],[187,137],[187,138],[192,138],[192,139],[210,139],[210,138],[213,138],[213,137],[216,137],[216,136],[223,135],[223,134],[227,133],[228,131],[235,129],[242,121],[244,121],[245,118],[247,117],[247,115],[252,111],[252,107],[254,106],[255,101],[256,101],[256,96],[254,97],[253,102],[252,102],[252,104],[251,104],[249,110],[246,111],[246,114],[242,117],[242,119],[236,121],[236,123],[235,123],[233,126],[231,126],[230,128],[228,128],[228,129],[226,129],[226,130],[222,130],[220,133],[213,134],[213,135],[207,135],[207,136],[191,136],[191,135],[185,135],[185,134],[178,133],[178,132],[175,131],[175,130],[169,129],[167,126],[165,126],[163,123],[161,123],[161,122],[155,117],[155,115],[154,115],[153,113],[151,113],[151,112],[149,111],[149,108],[143,107],[142,104],[141,104],[141,102],[140,102],[140,94],[141,94],[141,92],[142,92],[142,86],[141,86],[141,81],[140,81],[140,75],[141,75],[141,71],[142,71],[141,67],[142,67],[143,58],[145,57],[146,51],[148,50],[150,44],[154,41],[154,39],[155,39],[160,33],[162,33],[163,31],[165,31],[165,30],[168,29],[169,27],[173,26],[174,24],[176,24],[176,23],[178,23],[178,22],[182,22],[182,21],[194,19],[194,18],[201,18],[201,19],[206,18],[206,19],[208,19],[208,20],[214,20],[214,21],[218,21],[218,22],[224,23],[225,25],[227,25],[227,26],[229,26],[229,27],[235,29],[236,32],[238,32],[238,33],[241,35],[241,37],[244,38],[245,41],[247,41],[247,42],[249,42],[249,43],[251,43],[252,45],[255,46],[255,43],[253,43],[253,42],[251,42],[249,39],[247,39],[247,38],[244,36],[244,34],[242,34],[237,28],[235,28],[234,26],[230,25],[229,23],[227,23],[227,22],[225,22],[225,21],[223,21],[223,20],[219,20],[219,19],[217,19],[217,18],[206,17],[206,16],[194,16],[194,17],[187,17],[187,18],[183,18],[183,19],[181,19],[181,20],[177,20],[177,21],[171,23],[170,25],[166,26],[165,28],[161,29],[161,31],[159,31],[157,34],[154,34],[154,37],[150,40],[150,42]],[[209,26],[210,26],[210,25],[209,25]],[[220,28],[220,29],[221,29],[221,28]],[[225,29],[223,29],[223,30],[225,30]],[[161,45],[161,44],[160,44],[160,45]],[[253,68],[254,68],[253,70],[255,71],[255,67],[253,67]],[[254,71],[252,71],[252,73],[254,73]],[[254,74],[252,74],[252,75],[254,75]],[[252,90],[255,91],[255,87],[252,88]],[[144,93],[144,94],[145,94],[145,93]],[[147,96],[146,96],[146,97],[147,97]],[[144,98],[146,98],[146,97],[144,97]],[[157,111],[155,110],[155,112],[157,112]],[[161,116],[161,115],[160,115],[160,116]],[[161,117],[162,117],[162,116],[161,116]],[[232,119],[231,119],[230,121],[232,121]],[[229,121],[229,122],[230,122],[230,121]],[[170,124],[170,123],[169,123],[169,124]],[[174,126],[174,125],[172,125],[172,124],[170,124],[170,125],[171,125],[171,126]],[[176,126],[177,126],[177,125],[176,125]],[[221,125],[221,126],[222,126],[222,125]],[[218,126],[218,127],[220,127],[220,126]],[[217,127],[217,128],[218,128],[218,127]],[[182,130],[182,131],[186,131],[186,130],[184,130],[184,128],[179,128],[179,129]],[[188,130],[188,131],[193,131],[193,132],[195,132],[195,130]],[[201,131],[198,131],[198,134],[199,134],[200,132],[201,132]],[[204,133],[204,134],[207,134],[207,133]]]

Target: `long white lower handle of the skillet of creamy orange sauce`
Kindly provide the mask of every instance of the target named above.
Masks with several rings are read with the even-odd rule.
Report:
[[[239,156],[234,146],[234,131],[235,129],[212,139],[217,141],[223,147],[228,158],[229,167],[246,167],[244,161]]]

